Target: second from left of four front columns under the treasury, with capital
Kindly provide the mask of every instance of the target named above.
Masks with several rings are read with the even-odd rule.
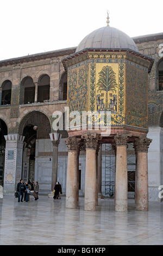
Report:
[[[85,210],[95,210],[96,208],[96,150],[98,140],[101,136],[91,133],[86,133],[82,136],[86,145],[86,162],[85,162]]]

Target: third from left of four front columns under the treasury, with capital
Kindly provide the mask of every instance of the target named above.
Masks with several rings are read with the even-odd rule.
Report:
[[[115,174],[115,210],[128,210],[127,142],[129,135],[117,134],[116,174]]]

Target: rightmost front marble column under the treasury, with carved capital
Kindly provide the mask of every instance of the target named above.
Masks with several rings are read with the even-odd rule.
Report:
[[[136,210],[148,210],[148,148],[152,139],[135,138],[135,207]]]

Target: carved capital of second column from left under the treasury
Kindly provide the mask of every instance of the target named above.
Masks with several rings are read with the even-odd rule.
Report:
[[[86,133],[85,135],[82,135],[82,138],[85,141],[86,148],[97,149],[101,135],[97,135],[96,133]]]

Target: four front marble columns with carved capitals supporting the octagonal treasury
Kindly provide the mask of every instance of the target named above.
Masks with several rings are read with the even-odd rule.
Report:
[[[116,154],[115,168],[115,210],[128,210],[127,143],[131,135],[118,133],[114,136]],[[82,137],[68,137],[66,208],[77,208],[79,190],[79,152],[82,143],[86,146],[85,164],[85,210],[95,210],[98,204],[98,150],[101,135],[86,133]],[[136,156],[135,207],[148,210],[148,162],[147,153],[152,142],[147,137],[136,137],[134,148]]]

